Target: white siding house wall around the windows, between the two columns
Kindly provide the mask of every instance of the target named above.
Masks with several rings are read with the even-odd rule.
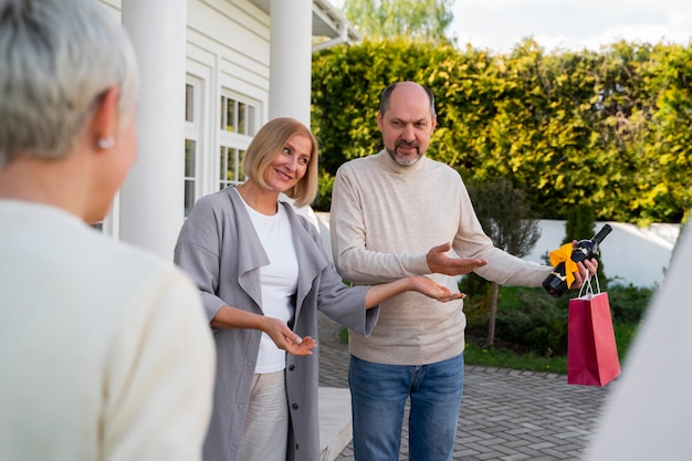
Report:
[[[202,82],[196,198],[218,190],[221,137],[247,147],[248,139],[220,133],[220,98],[224,92],[256,104],[255,124],[266,121],[269,104],[269,17],[248,1],[189,0],[188,78]]]

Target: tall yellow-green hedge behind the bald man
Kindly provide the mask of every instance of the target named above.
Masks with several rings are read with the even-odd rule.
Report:
[[[681,222],[692,208],[691,46],[546,53],[526,40],[493,54],[397,39],[313,56],[317,209],[329,209],[338,166],[381,148],[379,95],[400,80],[436,95],[430,157],[463,177],[506,177],[542,218],[585,202],[599,220]]]

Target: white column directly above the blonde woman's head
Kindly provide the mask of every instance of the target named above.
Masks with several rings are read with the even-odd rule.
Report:
[[[310,127],[312,0],[271,0],[269,116]]]

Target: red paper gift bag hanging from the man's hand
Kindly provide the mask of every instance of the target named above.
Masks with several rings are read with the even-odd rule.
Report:
[[[620,375],[610,303],[586,285],[586,295],[569,300],[567,384],[605,386]]]

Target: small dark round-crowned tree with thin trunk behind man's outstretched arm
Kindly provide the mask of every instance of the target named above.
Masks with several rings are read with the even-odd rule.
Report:
[[[500,177],[486,182],[471,181],[469,195],[483,230],[495,247],[517,258],[531,252],[541,237],[541,230],[521,189],[514,188],[512,182]],[[493,282],[486,342],[489,346],[495,342],[499,296],[500,285]]]

